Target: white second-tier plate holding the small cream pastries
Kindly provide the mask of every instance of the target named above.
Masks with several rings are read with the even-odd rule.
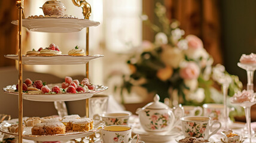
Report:
[[[18,55],[4,55],[4,57],[18,60]],[[90,60],[104,57],[104,55],[56,55],[56,56],[22,56],[23,64],[30,65],[67,65],[67,64],[86,64]]]

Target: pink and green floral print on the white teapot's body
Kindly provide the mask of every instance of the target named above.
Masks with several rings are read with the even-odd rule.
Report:
[[[145,110],[145,113],[147,117],[150,117],[150,124],[147,125],[147,128],[150,130],[164,129],[170,124],[170,115],[167,113],[160,114],[156,112],[154,114],[150,114],[150,111],[147,110]]]

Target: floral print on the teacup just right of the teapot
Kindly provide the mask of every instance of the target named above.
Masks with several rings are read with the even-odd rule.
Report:
[[[189,136],[193,136],[196,138],[205,137],[206,126],[208,123],[196,123],[196,122],[187,122],[187,129],[185,132],[188,133]]]

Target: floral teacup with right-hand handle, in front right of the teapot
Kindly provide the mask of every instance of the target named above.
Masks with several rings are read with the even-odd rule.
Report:
[[[182,131],[185,137],[209,139],[210,136],[214,135],[221,128],[221,123],[218,121],[214,121],[210,125],[209,117],[187,116],[182,117],[181,121]],[[219,125],[218,128],[212,131],[211,134],[209,134],[210,129],[212,129],[212,126],[217,124]]]

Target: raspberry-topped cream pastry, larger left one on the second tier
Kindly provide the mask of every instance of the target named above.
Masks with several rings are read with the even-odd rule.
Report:
[[[39,52],[39,56],[54,56],[54,55],[61,55],[62,52],[59,49],[59,46],[55,45],[54,43],[51,43],[49,47],[45,49],[41,49]]]

